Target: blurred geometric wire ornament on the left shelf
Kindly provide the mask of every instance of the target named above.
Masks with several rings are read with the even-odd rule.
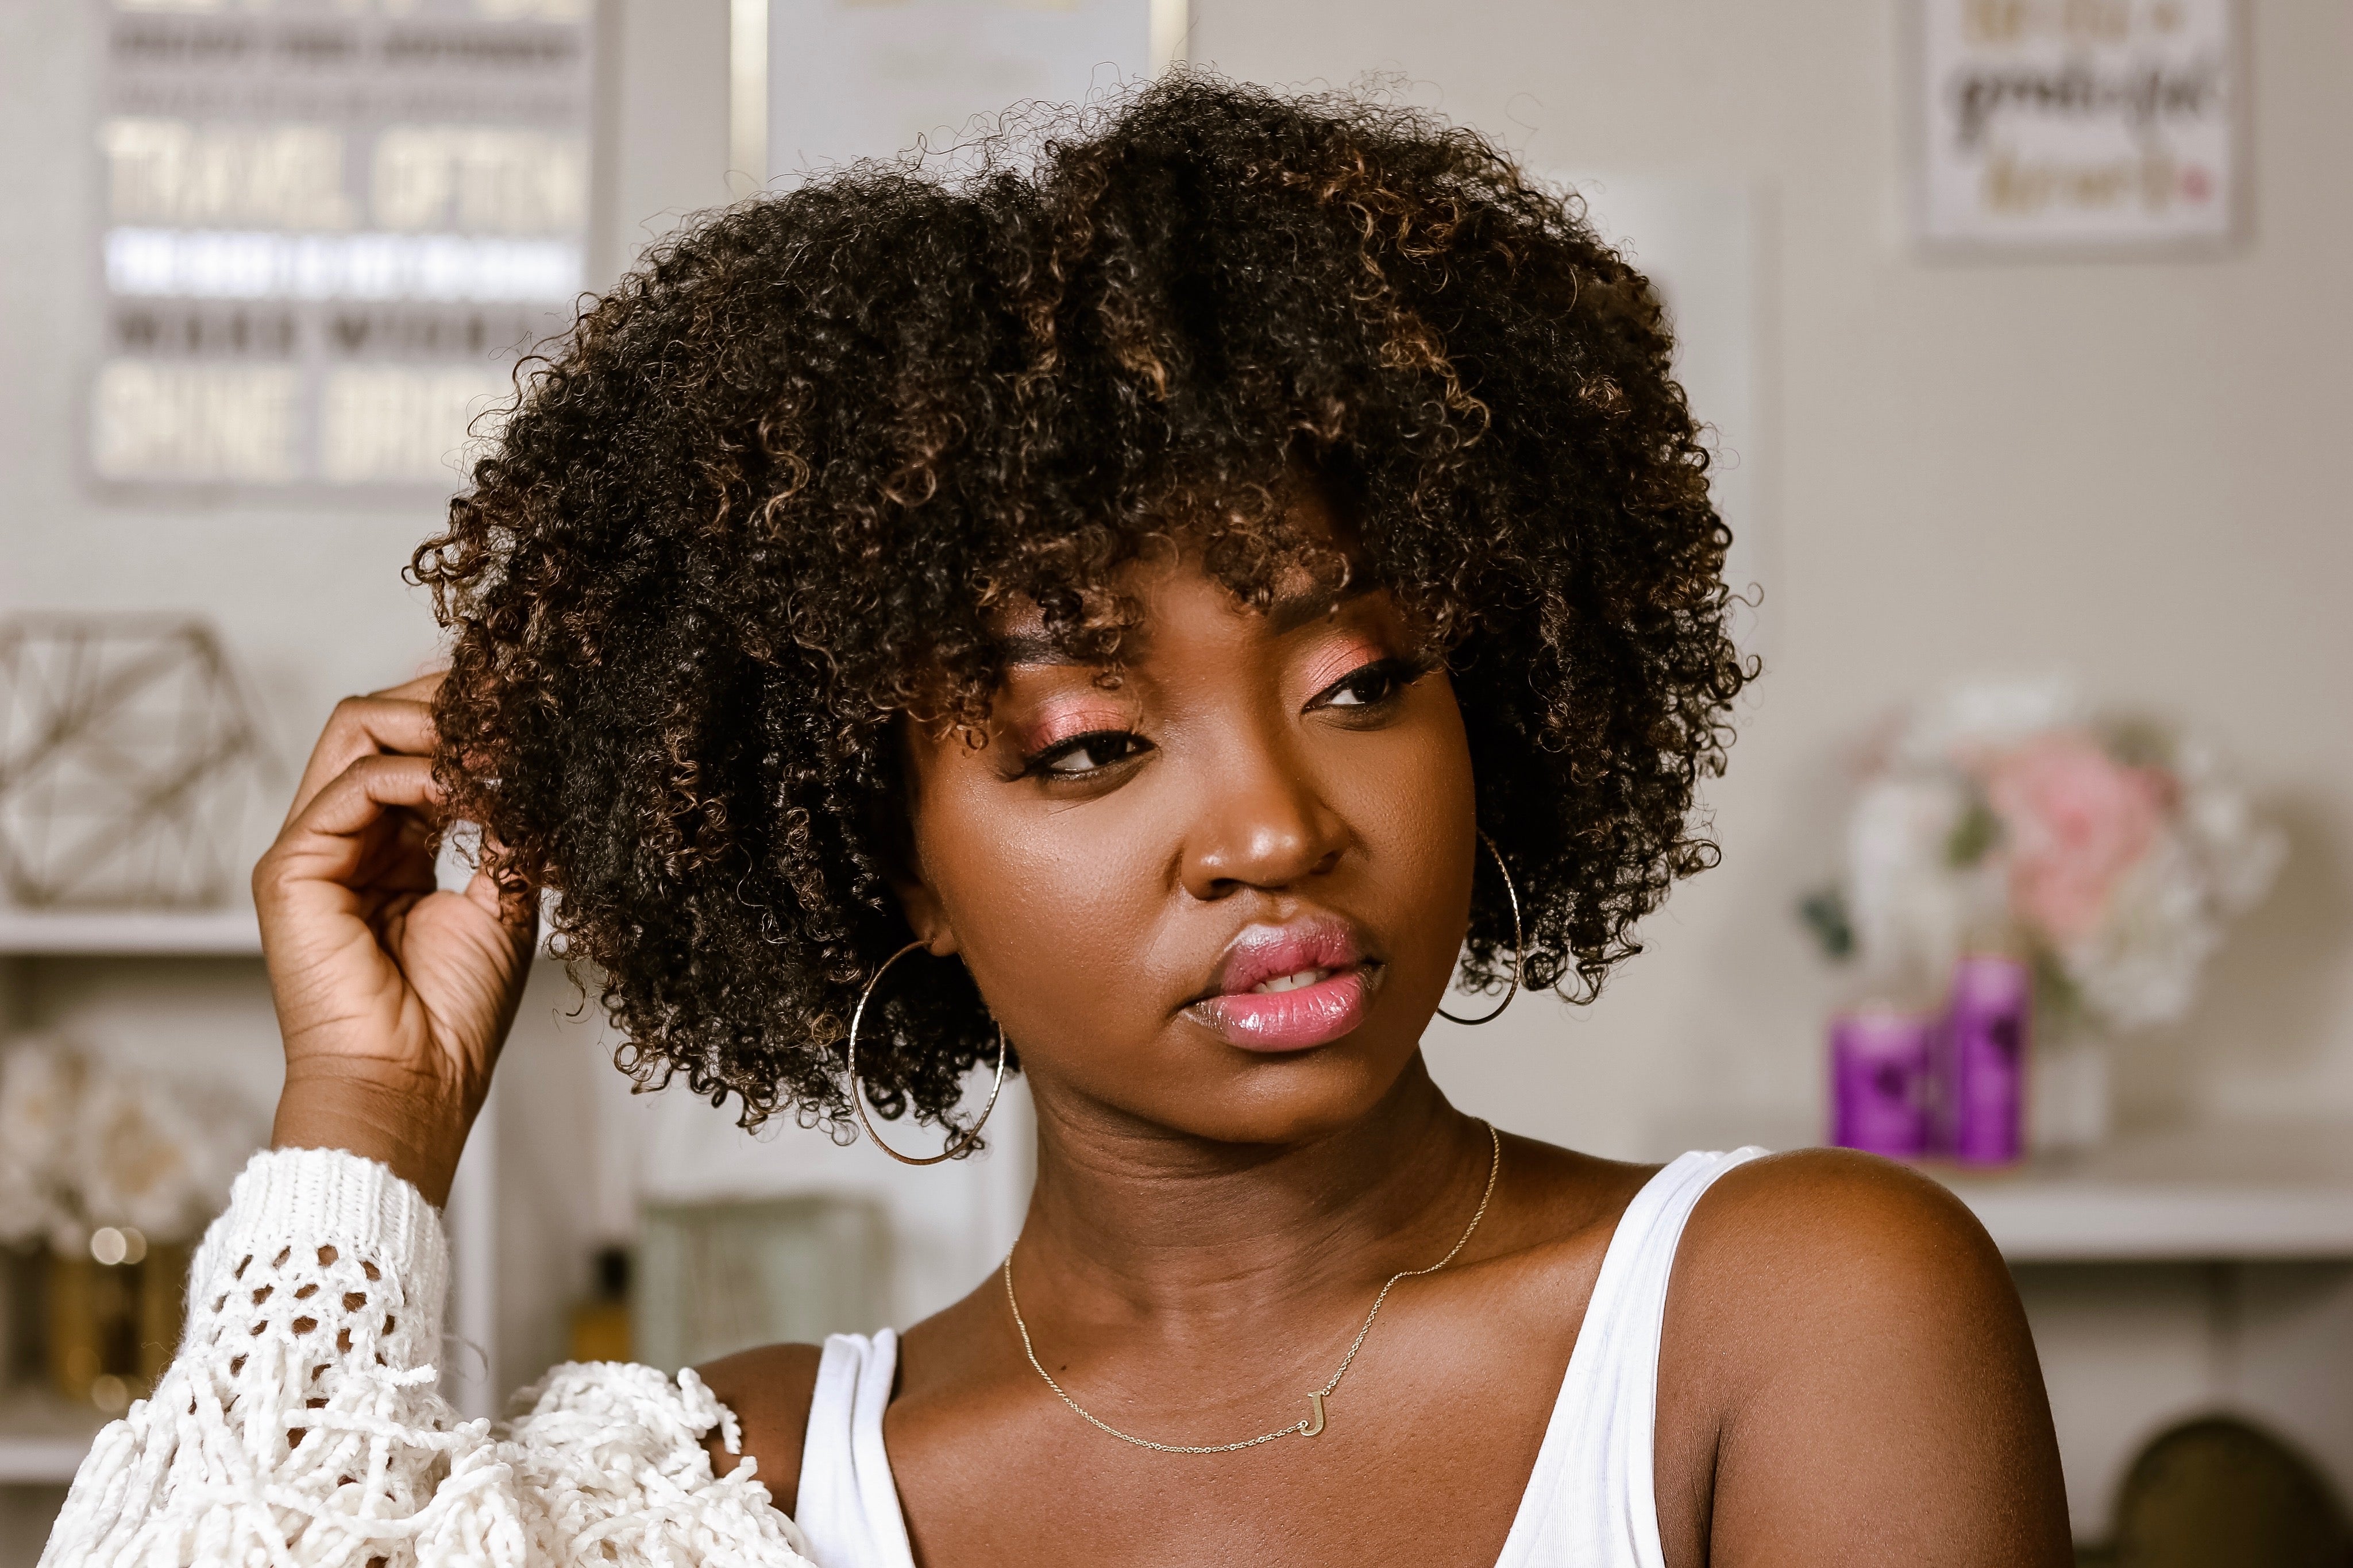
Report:
[[[12,903],[226,903],[273,771],[205,621],[0,621],[0,884]]]

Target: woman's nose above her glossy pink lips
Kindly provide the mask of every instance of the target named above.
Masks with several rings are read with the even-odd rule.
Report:
[[[1186,835],[1184,886],[1214,900],[1240,891],[1282,891],[1339,865],[1348,842],[1301,757],[1271,738],[1238,738],[1202,780]]]

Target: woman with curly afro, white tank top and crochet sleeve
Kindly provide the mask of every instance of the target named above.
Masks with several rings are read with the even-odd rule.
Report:
[[[1713,856],[1645,280],[1393,108],[1193,75],[998,153],[720,214],[532,376],[416,557],[447,679],[344,703],[256,870],[278,1147],[49,1561],[2068,1561],[1958,1204],[1508,1138],[1419,1056],[1457,966],[1591,997]],[[746,1124],[962,1152],[1019,1060],[1005,1267],[456,1425],[433,1206],[536,889],[624,1065]]]

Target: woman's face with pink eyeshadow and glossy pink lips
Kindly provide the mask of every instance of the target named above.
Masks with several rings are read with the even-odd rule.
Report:
[[[908,917],[965,957],[1040,1107],[1339,1128],[1412,1060],[1464,940],[1454,691],[1407,663],[1388,592],[1261,614],[1193,559],[1127,588],[1146,623],[1115,686],[1016,616],[988,743],[911,741]]]

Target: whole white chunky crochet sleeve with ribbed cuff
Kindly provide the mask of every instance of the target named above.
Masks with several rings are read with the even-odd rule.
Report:
[[[506,1422],[435,1389],[449,1248],[388,1168],[256,1154],[188,1272],[155,1394],[82,1460],[42,1568],[807,1568],[692,1373],[565,1363]]]

